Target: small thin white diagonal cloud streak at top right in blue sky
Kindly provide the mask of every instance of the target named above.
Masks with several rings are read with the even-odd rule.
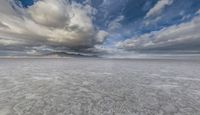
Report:
[[[166,6],[171,5],[172,3],[173,0],[159,0],[156,5],[146,14],[146,18],[158,15]]]

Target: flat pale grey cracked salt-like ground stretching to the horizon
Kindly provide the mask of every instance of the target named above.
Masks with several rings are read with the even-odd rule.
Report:
[[[0,59],[0,115],[200,115],[200,61]]]

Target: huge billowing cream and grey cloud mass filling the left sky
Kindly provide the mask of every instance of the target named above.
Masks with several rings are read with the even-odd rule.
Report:
[[[107,36],[106,31],[94,26],[95,13],[90,5],[74,1],[40,0],[24,9],[12,0],[1,0],[0,44],[13,50],[32,50],[42,45],[66,49],[94,47]]]

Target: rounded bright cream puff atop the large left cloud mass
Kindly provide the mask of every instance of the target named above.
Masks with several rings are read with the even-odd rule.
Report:
[[[38,1],[28,8],[28,14],[38,24],[59,27],[64,26],[68,20],[67,9],[62,0],[44,0]]]

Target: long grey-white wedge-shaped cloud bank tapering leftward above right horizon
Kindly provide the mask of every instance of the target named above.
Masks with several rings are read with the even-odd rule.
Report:
[[[118,42],[116,46],[126,50],[200,50],[200,15],[191,21],[164,27],[138,37]]]

